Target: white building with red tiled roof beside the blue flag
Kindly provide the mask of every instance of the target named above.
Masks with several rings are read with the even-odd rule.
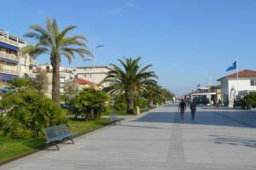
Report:
[[[225,105],[233,107],[234,99],[256,92],[256,71],[243,70],[218,79]]]

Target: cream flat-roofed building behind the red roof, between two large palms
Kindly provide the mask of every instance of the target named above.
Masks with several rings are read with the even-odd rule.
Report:
[[[77,78],[83,78],[85,80],[98,84],[102,82],[105,77],[107,77],[108,71],[110,70],[111,69],[106,65],[96,66],[95,68],[93,66],[81,66],[74,69],[74,75]],[[107,86],[108,83],[102,84],[102,87]]]

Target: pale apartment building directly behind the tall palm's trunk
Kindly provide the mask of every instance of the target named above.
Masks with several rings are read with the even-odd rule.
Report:
[[[51,98],[51,92],[52,92],[52,66],[49,64],[45,65],[38,65],[37,69],[34,70],[35,74],[38,74],[39,72],[45,72],[47,74],[47,77],[49,79],[49,85],[46,92],[46,95]],[[71,68],[65,68],[60,67],[60,93],[66,94],[65,92],[65,84],[68,81],[73,81],[73,69]]]

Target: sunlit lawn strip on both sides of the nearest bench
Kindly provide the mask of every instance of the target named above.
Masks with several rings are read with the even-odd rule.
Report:
[[[76,136],[104,127],[108,123],[108,119],[98,119],[90,122],[68,121],[69,130],[75,133]],[[44,146],[44,139],[11,139],[9,137],[3,137],[0,133],[0,163],[42,149]]]

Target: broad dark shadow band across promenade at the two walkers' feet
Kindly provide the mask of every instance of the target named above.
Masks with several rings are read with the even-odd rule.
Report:
[[[212,125],[229,127],[256,127],[256,114],[244,111],[196,111],[195,121],[190,112],[185,112],[184,121],[179,120],[179,112],[150,112],[133,122],[183,123],[191,125]]]

